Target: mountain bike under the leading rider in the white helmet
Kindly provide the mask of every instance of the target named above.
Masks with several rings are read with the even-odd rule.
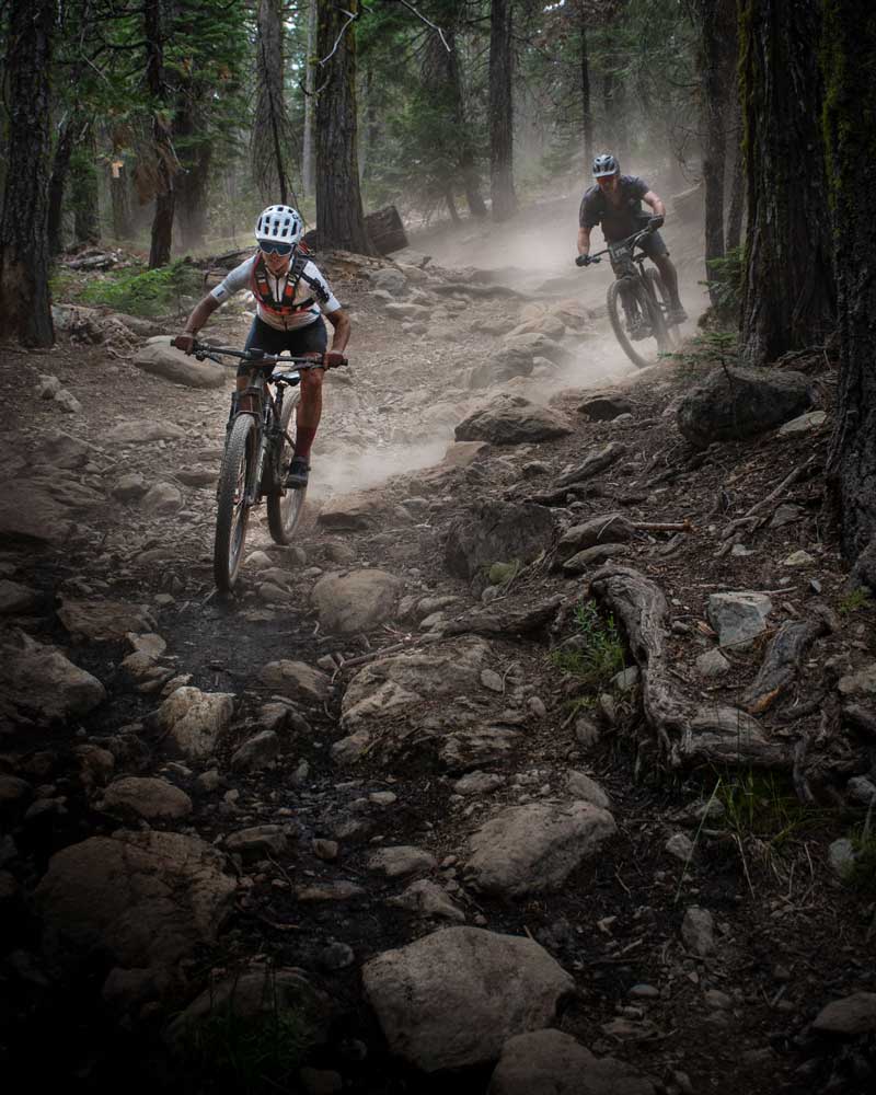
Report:
[[[249,366],[246,388],[232,395],[216,495],[212,572],[219,591],[229,593],[243,561],[250,511],[263,498],[272,539],[278,544],[291,543],[307,494],[307,487],[291,488],[284,483],[295,451],[295,411],[301,400],[295,389],[304,370],[328,366],[324,355],[268,355],[205,343],[195,343],[192,353],[198,361],[209,358],[222,365],[223,357],[232,357]],[[277,366],[292,368],[272,372]]]

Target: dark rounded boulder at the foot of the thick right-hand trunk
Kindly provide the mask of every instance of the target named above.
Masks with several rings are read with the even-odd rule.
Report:
[[[698,448],[757,437],[812,405],[812,383],[789,369],[716,369],[682,399],[678,428]]]

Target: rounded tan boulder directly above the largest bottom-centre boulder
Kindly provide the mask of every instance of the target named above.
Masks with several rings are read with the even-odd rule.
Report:
[[[590,803],[509,806],[472,837],[466,874],[500,897],[555,890],[614,832],[608,810]]]

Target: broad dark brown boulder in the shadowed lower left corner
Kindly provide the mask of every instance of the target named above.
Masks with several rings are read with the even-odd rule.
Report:
[[[112,955],[129,968],[171,965],[214,943],[237,881],[197,837],[118,832],[53,855],[36,888],[51,953]]]

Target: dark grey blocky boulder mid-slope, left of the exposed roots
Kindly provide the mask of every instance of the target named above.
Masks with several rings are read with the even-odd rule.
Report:
[[[545,506],[487,500],[450,526],[445,562],[451,574],[471,581],[493,563],[531,563],[553,538],[554,518]]]

